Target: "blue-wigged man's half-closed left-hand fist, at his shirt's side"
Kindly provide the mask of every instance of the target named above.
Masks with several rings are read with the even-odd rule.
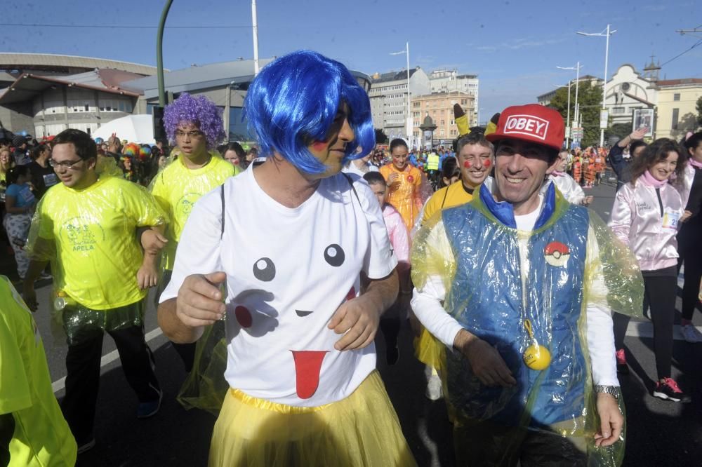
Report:
[[[192,274],[183,280],[176,299],[176,316],[186,326],[201,327],[223,320],[227,308],[219,285],[227,274],[219,271]]]

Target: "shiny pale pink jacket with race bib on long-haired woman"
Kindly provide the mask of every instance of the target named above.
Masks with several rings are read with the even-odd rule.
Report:
[[[660,189],[639,177],[617,191],[609,217],[614,234],[633,251],[642,271],[677,264],[678,220],[684,205],[677,190],[666,183]]]

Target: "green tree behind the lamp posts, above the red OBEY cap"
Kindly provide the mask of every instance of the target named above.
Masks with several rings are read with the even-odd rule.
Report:
[[[578,86],[578,104],[583,122],[582,147],[600,142],[600,108],[602,107],[602,86],[592,86],[590,81],[581,81]],[[558,88],[550,106],[561,113],[563,119],[568,114],[568,88]],[[571,121],[575,119],[575,86],[571,85]],[[569,124],[569,123],[568,123]],[[627,133],[628,134],[628,133]]]

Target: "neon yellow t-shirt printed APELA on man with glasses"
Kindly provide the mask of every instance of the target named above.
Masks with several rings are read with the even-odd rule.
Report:
[[[54,185],[39,202],[36,222],[37,241],[55,242],[55,287],[79,304],[107,310],[146,296],[136,282],[143,261],[136,230],[164,225],[168,216],[144,187],[117,177],[82,190]],[[34,235],[29,239],[31,251]]]

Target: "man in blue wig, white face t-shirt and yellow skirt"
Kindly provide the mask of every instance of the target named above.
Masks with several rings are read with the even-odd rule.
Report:
[[[194,205],[158,311],[180,343],[225,320],[209,463],[413,466],[373,346],[397,259],[373,192],[340,173],[375,145],[369,98],[299,51],[261,70],[244,111],[265,161]]]

